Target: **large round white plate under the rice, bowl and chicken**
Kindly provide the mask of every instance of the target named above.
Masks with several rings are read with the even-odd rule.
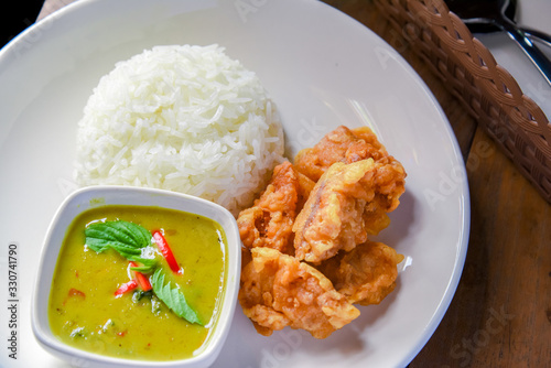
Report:
[[[338,125],[368,125],[409,174],[380,237],[409,264],[388,299],[360,307],[358,320],[324,340],[290,329],[260,336],[237,307],[215,367],[406,366],[443,317],[463,269],[464,164],[444,115],[409,65],[360,23],[306,0],[83,0],[1,51],[0,266],[7,273],[8,246],[15,243],[18,326],[8,328],[9,312],[0,309],[0,338],[15,331],[19,356],[10,359],[3,348],[0,366],[60,365],[32,336],[31,291],[47,224],[75,188],[76,122],[93,88],[118,61],[185,43],[217,43],[257,72],[279,107],[291,153]]]

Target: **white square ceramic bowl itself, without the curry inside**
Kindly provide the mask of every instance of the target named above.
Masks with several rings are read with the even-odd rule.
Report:
[[[180,360],[134,360],[102,356],[68,346],[50,328],[48,299],[60,250],[66,231],[80,213],[104,205],[158,206],[197,214],[217,221],[226,232],[227,277],[214,331],[196,356]],[[78,367],[208,367],[220,353],[231,325],[239,291],[241,240],[235,217],[224,207],[198,197],[169,191],[131,186],[90,186],[74,192],[57,209],[44,240],[32,301],[32,327],[39,343],[53,355]]]

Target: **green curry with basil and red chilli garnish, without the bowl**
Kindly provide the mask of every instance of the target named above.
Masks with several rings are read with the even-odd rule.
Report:
[[[226,235],[206,217],[102,205],[68,228],[48,301],[52,333],[101,355],[194,356],[212,334],[226,284]]]

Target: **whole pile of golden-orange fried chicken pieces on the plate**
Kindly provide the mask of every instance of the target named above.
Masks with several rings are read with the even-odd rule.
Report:
[[[379,304],[403,259],[369,239],[385,229],[406,171],[369,128],[338,127],[276,167],[237,223],[244,242],[239,302],[262,335],[285,326],[325,338]]]

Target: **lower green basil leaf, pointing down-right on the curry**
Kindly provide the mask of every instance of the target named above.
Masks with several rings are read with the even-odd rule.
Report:
[[[179,317],[190,323],[196,323],[203,326],[197,313],[187,304],[184,294],[177,289],[171,289],[171,283],[164,284],[164,274],[162,269],[156,269],[151,278],[151,285],[156,297],[166,304]]]

